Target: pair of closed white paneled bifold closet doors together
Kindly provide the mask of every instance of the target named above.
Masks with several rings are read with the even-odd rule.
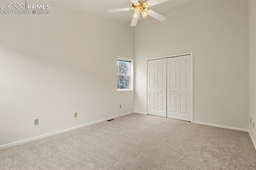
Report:
[[[147,64],[147,114],[192,121],[192,54]]]

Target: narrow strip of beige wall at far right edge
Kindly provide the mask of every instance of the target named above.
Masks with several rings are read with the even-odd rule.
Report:
[[[249,12],[249,130],[256,141],[256,0],[248,1]],[[252,118],[252,123],[250,123]]]

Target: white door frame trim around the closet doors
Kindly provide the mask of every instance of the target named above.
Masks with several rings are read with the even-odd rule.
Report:
[[[146,115],[148,115],[148,61],[154,59],[163,59],[163,58],[170,58],[170,57],[179,57],[184,55],[190,55],[191,57],[191,123],[193,123],[193,52],[189,53],[180,53],[174,55],[166,55],[162,57],[153,57],[146,59]]]

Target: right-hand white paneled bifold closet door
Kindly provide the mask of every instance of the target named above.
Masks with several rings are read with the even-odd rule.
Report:
[[[190,55],[167,58],[167,117],[191,121]]]

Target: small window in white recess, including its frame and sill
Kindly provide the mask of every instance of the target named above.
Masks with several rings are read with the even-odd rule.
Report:
[[[117,91],[132,90],[132,60],[117,58]]]

